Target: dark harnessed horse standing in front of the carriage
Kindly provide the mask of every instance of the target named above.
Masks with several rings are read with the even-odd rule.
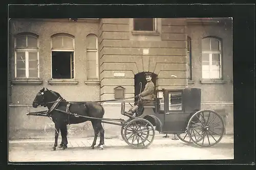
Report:
[[[55,142],[52,148],[53,151],[56,150],[56,147],[58,144],[59,130],[61,132],[61,143],[59,145],[59,148],[61,150],[65,150],[68,148],[67,125],[80,124],[87,121],[91,121],[93,130],[94,130],[94,140],[90,148],[94,149],[94,146],[96,145],[98,133],[100,133],[100,142],[97,147],[99,147],[100,149],[103,149],[104,129],[101,125],[100,119],[90,119],[90,118],[79,117],[79,116],[77,117],[71,114],[62,113],[60,111],[55,110],[55,109],[58,109],[62,111],[67,111],[67,108],[68,108],[70,113],[75,113],[77,115],[82,115],[82,116],[103,118],[104,108],[100,103],[86,101],[86,102],[76,102],[76,103],[74,102],[70,104],[65,99],[63,99],[58,92],[49,90],[47,88],[45,89],[44,87],[36,94],[32,104],[33,108],[37,108],[39,105],[47,107],[49,109],[47,114],[49,117],[52,117],[52,120],[55,125]]]

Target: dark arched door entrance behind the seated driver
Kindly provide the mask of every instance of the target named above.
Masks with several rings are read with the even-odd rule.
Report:
[[[145,72],[139,72],[137,75],[134,77],[134,88],[135,88],[135,95],[138,95],[140,93],[140,82],[142,84],[142,89],[141,91],[144,90],[145,85],[146,85],[146,79],[144,76]],[[152,73],[152,82],[155,84],[155,89],[154,89],[154,94],[156,94],[156,78],[157,75]]]

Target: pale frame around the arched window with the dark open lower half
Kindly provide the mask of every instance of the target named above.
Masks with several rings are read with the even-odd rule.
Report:
[[[54,37],[58,37],[58,36],[60,36],[60,37],[65,37],[66,36],[66,37],[72,38],[73,49],[72,48],[53,48],[52,39]],[[62,38],[62,43],[63,43],[63,38]],[[73,52],[74,78],[72,78],[72,65],[70,65],[70,71],[71,71],[71,78],[70,79],[53,79],[52,78],[52,52]],[[72,64],[72,63],[70,63],[70,64]],[[69,81],[69,80],[75,80],[75,78],[76,78],[76,76],[75,76],[75,37],[70,35],[70,34],[65,34],[65,33],[58,33],[58,34],[55,34],[55,35],[51,36],[51,79],[52,80],[67,80],[67,81]]]

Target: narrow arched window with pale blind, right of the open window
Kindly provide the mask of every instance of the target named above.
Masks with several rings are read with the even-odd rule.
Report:
[[[87,79],[99,79],[99,64],[98,64],[98,38],[96,35],[89,34],[87,41]]]

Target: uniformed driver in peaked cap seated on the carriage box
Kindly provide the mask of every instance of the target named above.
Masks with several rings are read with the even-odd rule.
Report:
[[[127,111],[125,113],[133,115],[139,107],[140,107],[139,108],[140,111],[141,111],[141,109],[143,109],[143,108],[141,108],[142,102],[146,103],[147,101],[153,101],[154,100],[154,98],[155,98],[155,94],[154,94],[155,85],[151,80],[152,79],[152,74],[150,72],[146,72],[145,73],[145,78],[146,78],[146,81],[147,81],[147,83],[145,85],[145,89],[140,94],[135,96],[135,98],[138,98],[139,95],[140,95],[141,101],[139,101],[139,99],[138,99],[138,101],[136,101],[134,103],[134,106],[129,111]]]

